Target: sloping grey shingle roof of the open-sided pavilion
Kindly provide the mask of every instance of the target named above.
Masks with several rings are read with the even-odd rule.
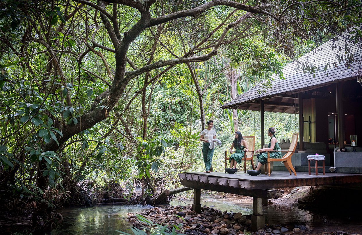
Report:
[[[271,77],[271,88],[262,88],[262,83],[259,83],[249,91],[236,97],[235,100],[222,105],[221,108],[237,108],[241,104],[252,103],[282,94],[308,91],[316,87],[326,86],[343,79],[352,79],[362,75],[361,45],[350,41],[346,42],[340,36],[337,39],[329,40],[298,59],[301,64],[313,65],[315,68],[318,68],[314,74],[304,73],[301,68],[302,66],[298,62],[291,62],[283,68],[285,80],[279,79],[278,75],[273,75]],[[332,49],[333,45],[337,47]],[[345,57],[348,56],[345,53],[345,46],[350,50],[348,55],[353,55],[354,58],[354,62],[349,66],[346,65],[345,60]],[[326,65],[327,70],[325,70]]]

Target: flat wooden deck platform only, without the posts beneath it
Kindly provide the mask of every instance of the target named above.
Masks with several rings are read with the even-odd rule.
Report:
[[[243,172],[237,172],[235,174],[224,172],[185,172],[179,174],[179,176],[184,183],[185,181],[194,183],[200,182],[209,185],[213,184],[246,190],[362,183],[362,174],[345,173],[325,173],[325,175],[315,175],[315,173],[312,173],[311,175],[308,175],[308,172],[297,172],[297,176],[294,176],[290,175],[287,171],[273,171],[269,177],[268,175],[261,174],[251,176],[244,174]],[[187,184],[188,187],[191,187],[189,186],[189,183]]]

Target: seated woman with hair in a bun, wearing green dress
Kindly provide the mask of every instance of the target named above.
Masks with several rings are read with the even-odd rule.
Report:
[[[270,127],[268,130],[268,136],[270,136],[269,145],[268,148],[261,148],[256,151],[256,153],[261,153],[258,155],[258,166],[256,167],[257,170],[260,170],[260,167],[264,164],[266,164],[266,160],[268,159],[268,153],[262,153],[266,150],[275,150],[275,151],[281,151],[281,148],[279,147],[277,138],[275,138],[275,129],[273,127]],[[282,158],[281,152],[270,152],[269,153],[270,158]]]

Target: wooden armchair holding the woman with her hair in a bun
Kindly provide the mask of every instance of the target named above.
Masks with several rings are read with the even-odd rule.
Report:
[[[265,152],[268,152],[268,175],[270,176],[270,162],[283,162],[284,166],[288,169],[289,174],[291,175],[291,171],[293,171],[294,176],[296,176],[296,172],[294,170],[294,167],[292,165],[291,157],[293,156],[296,148],[296,144],[298,143],[298,134],[299,133],[293,133],[292,141],[290,142],[290,146],[288,150],[266,150]],[[287,152],[282,158],[270,158],[270,152]],[[266,174],[266,168],[265,168],[265,174]]]

